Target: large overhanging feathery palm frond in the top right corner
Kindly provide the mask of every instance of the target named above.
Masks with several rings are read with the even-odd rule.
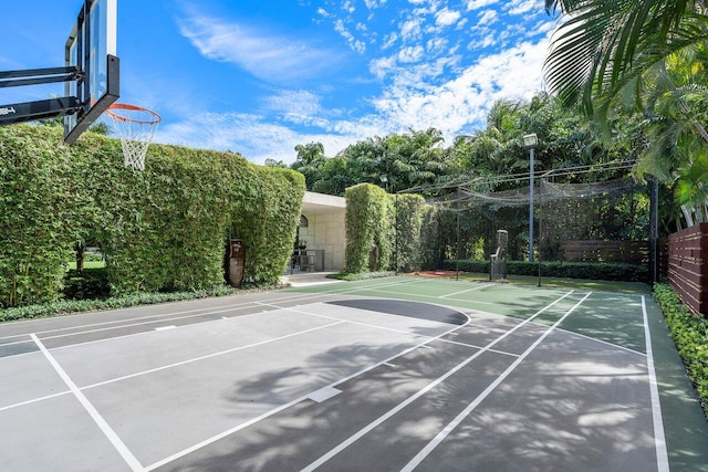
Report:
[[[708,0],[545,0],[545,8],[569,17],[546,59],[546,78],[566,105],[586,112],[708,41]]]

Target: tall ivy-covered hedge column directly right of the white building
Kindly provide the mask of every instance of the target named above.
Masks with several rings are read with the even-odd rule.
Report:
[[[346,198],[346,272],[369,271],[369,254],[378,250],[378,268],[388,270],[393,263],[393,197],[371,183],[350,187]]]

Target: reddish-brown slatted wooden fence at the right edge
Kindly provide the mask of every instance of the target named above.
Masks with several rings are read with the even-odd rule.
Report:
[[[669,237],[668,281],[691,311],[708,315],[708,223]]]

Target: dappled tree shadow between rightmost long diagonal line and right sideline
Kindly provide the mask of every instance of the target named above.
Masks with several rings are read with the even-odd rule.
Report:
[[[476,374],[469,377],[481,378],[481,368],[470,366]],[[480,389],[460,376],[437,395],[456,399],[445,407],[460,412]],[[462,470],[460,462],[466,470],[652,470],[648,400],[641,356],[597,350],[587,340],[579,347],[577,338],[561,334],[539,346],[465,417],[421,470]],[[446,415],[431,402],[417,413]]]

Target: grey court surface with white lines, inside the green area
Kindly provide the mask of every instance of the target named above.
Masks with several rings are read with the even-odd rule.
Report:
[[[668,470],[647,356],[549,325],[271,292],[0,325],[0,470]],[[531,315],[531,314],[530,314]]]

